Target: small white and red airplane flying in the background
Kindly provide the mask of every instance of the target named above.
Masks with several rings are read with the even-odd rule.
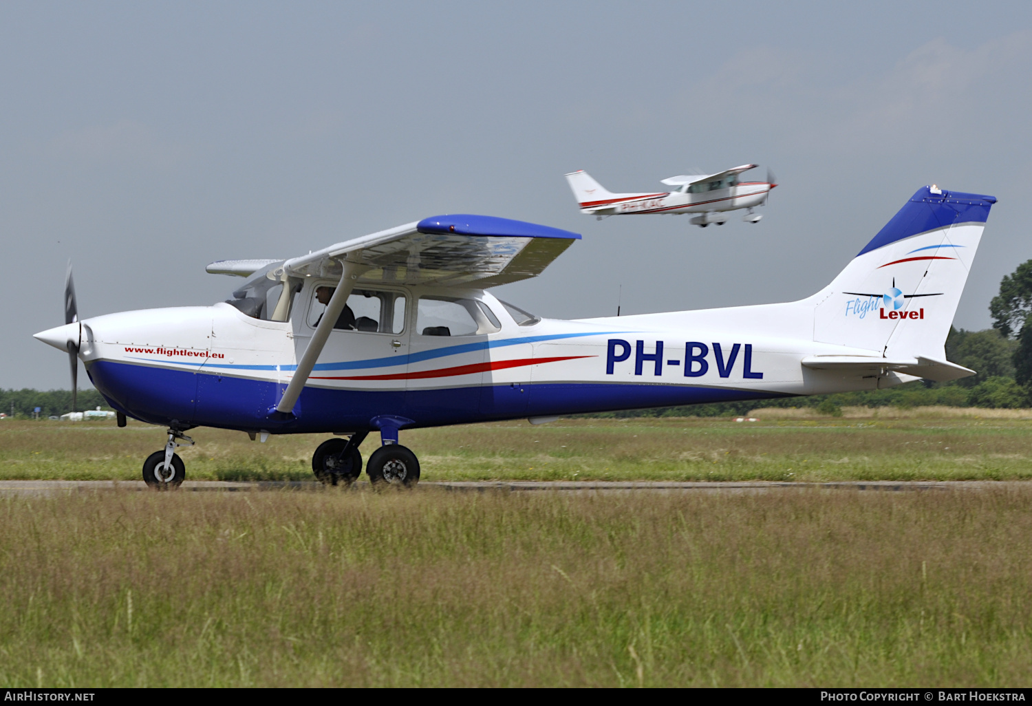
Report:
[[[743,164],[715,174],[671,176],[663,180],[668,191],[658,193],[614,194],[591,179],[586,171],[567,174],[567,182],[580,204],[582,214],[592,214],[600,220],[606,216],[626,214],[697,214],[694,225],[705,228],[710,223],[723,225],[728,212],[746,208],[742,220],[759,223],[763,218],[752,213],[754,206],[767,202],[767,194],[777,186],[767,172],[766,182],[742,182],[743,171],[755,164]]]

